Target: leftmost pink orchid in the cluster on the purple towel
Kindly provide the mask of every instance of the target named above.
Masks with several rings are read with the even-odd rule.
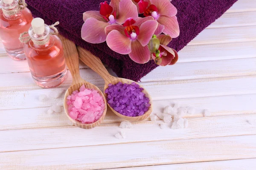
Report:
[[[100,3],[100,11],[86,11],[81,29],[83,40],[98,44],[106,41],[105,28],[112,24],[123,24],[129,17],[137,18],[136,5],[131,0],[111,0]]]

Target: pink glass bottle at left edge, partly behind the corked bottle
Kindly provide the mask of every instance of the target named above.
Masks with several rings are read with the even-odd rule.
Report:
[[[26,4],[20,6],[19,0],[0,0],[0,37],[9,57],[24,60],[24,44],[20,42],[20,34],[28,31],[33,19]]]

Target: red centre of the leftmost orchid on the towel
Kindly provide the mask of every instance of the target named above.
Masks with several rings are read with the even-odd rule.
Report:
[[[99,14],[101,14],[107,22],[111,24],[116,23],[116,11],[113,11],[113,7],[110,6],[107,1],[100,3]]]

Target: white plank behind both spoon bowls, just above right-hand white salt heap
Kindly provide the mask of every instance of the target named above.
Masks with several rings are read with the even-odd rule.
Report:
[[[209,79],[175,80],[169,82],[140,83],[151,94],[153,100],[186,99],[206,96],[226,96],[238,94],[256,94],[256,75],[243,77],[220,77]],[[103,85],[95,83],[101,90]],[[66,86],[63,88],[63,86]],[[188,88],[189,87],[189,88]],[[45,102],[38,100],[39,95],[49,96],[52,91],[61,91],[58,99],[49,99]],[[0,91],[4,100],[0,103],[0,110],[42,108],[63,99],[67,85],[55,89],[36,89],[20,91]]]

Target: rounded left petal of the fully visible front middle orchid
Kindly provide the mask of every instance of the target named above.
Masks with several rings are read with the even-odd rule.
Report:
[[[131,39],[117,30],[113,30],[108,34],[107,44],[111,50],[119,54],[131,53]]]

